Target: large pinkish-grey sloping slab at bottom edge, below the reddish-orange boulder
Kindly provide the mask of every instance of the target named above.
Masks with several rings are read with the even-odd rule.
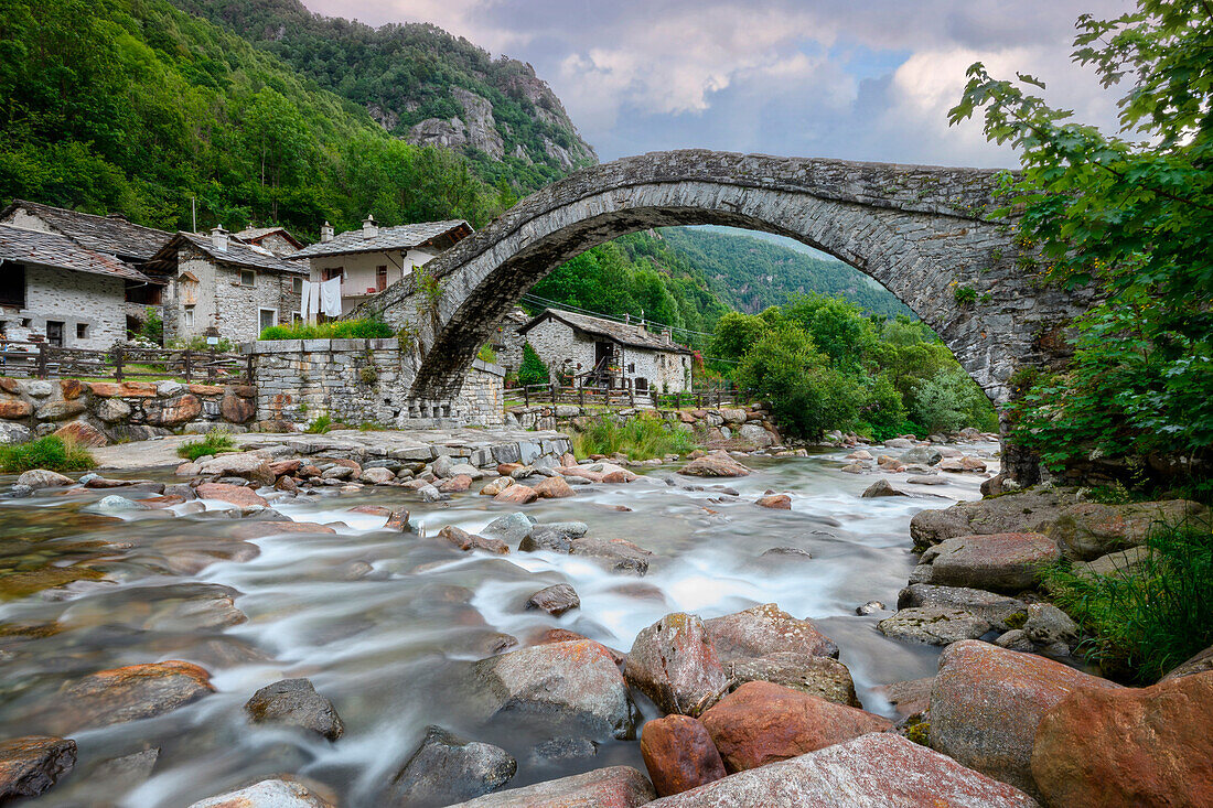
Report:
[[[731,774],[653,808],[1038,808],[1009,785],[893,733]]]

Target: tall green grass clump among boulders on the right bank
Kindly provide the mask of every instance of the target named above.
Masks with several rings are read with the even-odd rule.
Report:
[[[1059,564],[1046,574],[1057,604],[1090,639],[1078,650],[1105,675],[1155,682],[1213,644],[1213,533],[1208,517],[1158,523],[1140,565],[1078,576]]]

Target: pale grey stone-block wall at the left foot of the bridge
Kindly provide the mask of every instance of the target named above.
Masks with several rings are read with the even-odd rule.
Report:
[[[417,358],[399,340],[279,340],[241,347],[254,354],[258,421],[297,428],[328,415],[358,426],[501,426],[505,371],[479,359],[449,402],[415,402]]]

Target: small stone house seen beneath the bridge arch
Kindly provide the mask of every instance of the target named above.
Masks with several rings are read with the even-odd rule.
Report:
[[[548,308],[518,334],[548,366],[553,381],[573,377],[577,386],[638,393],[680,393],[691,386],[691,352],[670,331],[656,335],[631,323]]]

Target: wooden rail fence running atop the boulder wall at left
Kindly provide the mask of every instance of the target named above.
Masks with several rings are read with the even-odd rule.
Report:
[[[114,346],[108,351],[61,348],[49,342],[0,340],[0,376],[21,379],[172,379],[252,383],[252,355]]]

